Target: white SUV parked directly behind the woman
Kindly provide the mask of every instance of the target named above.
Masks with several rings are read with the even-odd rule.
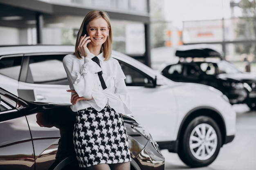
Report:
[[[74,46],[0,47],[0,86],[28,101],[69,103],[62,64]],[[141,62],[112,52],[126,75],[132,115],[160,149],[178,153],[188,166],[212,163],[235,137],[236,113],[211,86],[173,82]]]

